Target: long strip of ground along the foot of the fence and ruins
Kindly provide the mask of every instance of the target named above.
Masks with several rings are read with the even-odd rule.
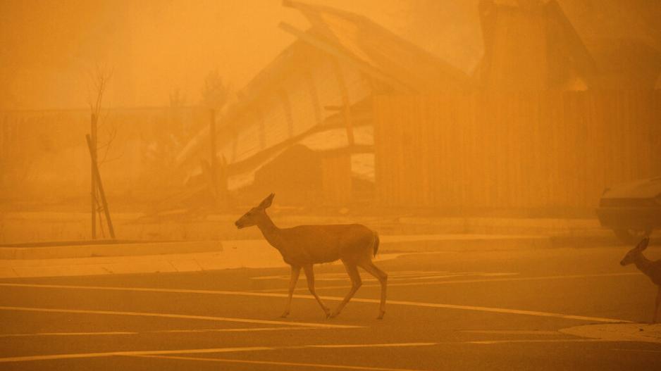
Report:
[[[142,220],[141,214],[117,213],[118,235],[123,239],[161,241],[206,241],[260,239],[257,229],[237,231],[237,215],[210,214],[204,218],[178,220]],[[144,215],[142,215],[144,216]],[[284,215],[273,213],[280,227],[295,225],[326,225],[359,223],[381,235],[398,234],[509,234],[550,237],[610,237],[609,229],[600,226],[596,218],[498,218],[366,215]],[[0,243],[16,241],[47,241],[85,238],[89,229],[85,213],[5,213],[0,215]]]

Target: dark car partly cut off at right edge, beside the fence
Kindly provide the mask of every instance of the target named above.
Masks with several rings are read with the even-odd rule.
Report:
[[[597,216],[624,243],[637,244],[661,227],[661,177],[606,188]]]

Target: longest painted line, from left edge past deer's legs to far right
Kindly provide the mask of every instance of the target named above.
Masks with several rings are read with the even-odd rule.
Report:
[[[69,286],[58,284],[14,284],[14,283],[0,283],[0,287],[36,287],[42,289],[85,289],[85,290],[109,290],[109,291],[139,291],[139,292],[161,292],[161,293],[176,293],[176,294],[211,294],[211,295],[228,295],[228,296],[255,296],[255,297],[269,297],[269,298],[286,298],[287,294],[276,294],[267,292],[250,292],[250,291],[216,291],[216,290],[194,290],[194,289],[151,289],[147,287],[105,287],[105,286]],[[311,295],[294,295],[295,298],[314,299]],[[344,298],[340,296],[321,296],[321,298],[328,301],[342,301]],[[379,303],[376,299],[366,298],[352,298],[353,302],[359,303]],[[613,318],[604,317],[589,317],[584,315],[566,315],[562,313],[539,312],[536,310],[519,310],[507,308],[492,308],[483,306],[459,306],[455,304],[441,304],[441,303],[424,303],[419,301],[388,301],[390,305],[398,306],[414,306],[422,308],[445,308],[445,309],[459,309],[459,310],[473,310],[478,312],[490,313],[503,313],[503,314],[517,314],[517,315],[534,315],[537,317],[555,317],[564,318],[567,320],[582,320],[588,322],[607,322],[607,323],[622,323],[631,322],[626,320],[618,320]],[[290,324],[291,322],[285,322]]]

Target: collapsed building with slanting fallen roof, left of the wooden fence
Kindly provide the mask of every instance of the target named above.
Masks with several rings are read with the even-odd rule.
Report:
[[[253,198],[271,191],[285,204],[342,205],[364,199],[374,182],[373,110],[377,94],[467,91],[452,67],[362,15],[285,1],[309,30],[218,115],[218,157],[226,184]],[[203,130],[178,156],[200,175],[208,153]],[[223,163],[221,161],[221,163]]]

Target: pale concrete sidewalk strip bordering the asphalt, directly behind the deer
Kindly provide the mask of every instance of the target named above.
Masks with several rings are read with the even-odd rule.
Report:
[[[545,249],[549,237],[490,234],[381,236],[379,251]],[[384,258],[383,254],[378,258]],[[130,244],[0,247],[0,278],[197,272],[286,267],[264,238]]]

